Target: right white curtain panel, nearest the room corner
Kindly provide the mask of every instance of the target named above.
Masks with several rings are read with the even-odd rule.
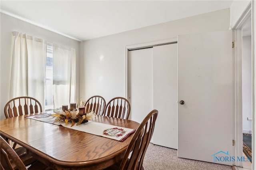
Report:
[[[75,102],[76,89],[76,53],[53,45],[53,101],[54,110],[62,105]]]

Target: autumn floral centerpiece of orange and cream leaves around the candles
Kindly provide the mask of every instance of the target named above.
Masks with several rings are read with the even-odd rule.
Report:
[[[83,115],[79,114],[78,110],[68,110],[68,111],[56,111],[55,114],[52,115],[53,117],[56,117],[54,122],[61,122],[65,121],[67,124],[68,122],[71,122],[71,127],[75,125],[80,125],[82,123],[86,123],[90,121],[92,118],[95,117],[95,114],[93,111],[90,113],[85,113]]]

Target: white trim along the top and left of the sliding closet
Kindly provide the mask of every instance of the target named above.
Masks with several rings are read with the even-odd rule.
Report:
[[[147,42],[147,43],[139,43],[139,44],[134,44],[134,45],[126,45],[125,46],[125,98],[130,101],[130,96],[129,96],[129,50],[130,49],[142,49],[150,46],[156,46],[156,45],[163,45],[165,43],[175,43],[177,42],[177,37],[176,38],[170,38],[166,40],[159,40],[159,41],[154,41],[154,42]]]

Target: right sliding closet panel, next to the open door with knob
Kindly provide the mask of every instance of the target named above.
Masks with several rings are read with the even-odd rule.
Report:
[[[177,43],[153,47],[154,144],[177,149]]]

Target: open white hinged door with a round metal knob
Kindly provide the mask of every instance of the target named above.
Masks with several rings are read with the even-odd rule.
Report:
[[[234,155],[232,31],[178,36],[178,157]],[[219,156],[228,156],[226,154]]]

